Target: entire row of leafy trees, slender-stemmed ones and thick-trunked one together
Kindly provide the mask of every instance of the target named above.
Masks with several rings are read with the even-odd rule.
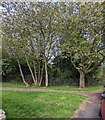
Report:
[[[47,87],[48,64],[61,55],[78,70],[80,87],[85,87],[85,75],[105,59],[104,4],[1,3],[3,54],[17,61],[25,85],[29,84],[22,63],[27,64],[35,86],[41,86],[45,72]]]

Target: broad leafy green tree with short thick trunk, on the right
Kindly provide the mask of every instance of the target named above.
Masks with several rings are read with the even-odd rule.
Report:
[[[102,10],[102,5],[97,2],[77,3],[65,21],[62,51],[67,53],[65,57],[71,58],[80,73],[80,88],[85,87],[85,75],[100,66],[105,59]]]

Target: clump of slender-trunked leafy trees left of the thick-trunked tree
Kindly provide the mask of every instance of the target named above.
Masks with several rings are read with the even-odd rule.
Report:
[[[48,86],[47,65],[55,54],[58,41],[57,20],[53,7],[50,3],[31,2],[4,2],[2,6],[6,9],[3,12],[3,29],[7,28],[6,32],[3,31],[4,40],[8,41],[10,48],[13,47],[14,57],[18,59],[18,63],[21,59],[26,61],[34,85],[41,85],[45,63],[45,85]],[[8,46],[7,42],[5,43]],[[36,66],[36,62],[39,65]],[[34,64],[34,72],[31,64]]]

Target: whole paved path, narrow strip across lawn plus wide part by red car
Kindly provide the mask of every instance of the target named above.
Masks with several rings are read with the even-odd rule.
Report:
[[[10,91],[33,91],[33,92],[60,92],[60,93],[73,93],[88,96],[88,98],[81,104],[80,108],[75,112],[74,118],[97,118],[96,120],[101,120],[99,117],[100,109],[100,94],[102,91],[97,92],[77,92],[77,91],[67,91],[67,90],[44,90],[44,89],[34,89],[34,88],[0,88],[0,90],[10,90]]]

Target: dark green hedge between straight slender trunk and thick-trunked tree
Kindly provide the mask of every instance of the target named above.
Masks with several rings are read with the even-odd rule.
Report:
[[[51,85],[78,85],[79,73],[70,60],[57,56],[52,63]]]

